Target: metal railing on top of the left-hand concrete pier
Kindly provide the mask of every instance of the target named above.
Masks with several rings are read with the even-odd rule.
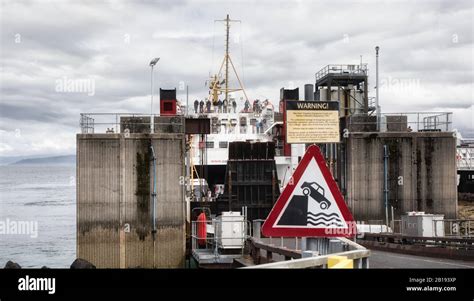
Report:
[[[125,133],[126,130],[131,133],[150,133],[152,126],[155,132],[170,126],[177,129],[173,132],[184,132],[184,117],[182,115],[152,116],[144,113],[81,113],[80,116],[79,126],[82,134],[116,134]]]

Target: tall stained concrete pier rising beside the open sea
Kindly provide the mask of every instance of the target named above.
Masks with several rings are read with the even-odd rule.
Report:
[[[183,267],[184,152],[183,133],[78,134],[77,257],[98,268]]]

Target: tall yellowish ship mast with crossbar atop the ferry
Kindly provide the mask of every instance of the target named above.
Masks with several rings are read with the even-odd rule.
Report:
[[[239,75],[237,74],[237,70],[235,70],[234,63],[232,62],[232,59],[230,57],[230,51],[229,51],[229,37],[230,37],[230,23],[231,22],[241,22],[240,20],[231,20],[229,15],[224,20],[215,20],[215,22],[224,22],[225,23],[225,28],[226,28],[226,39],[225,39],[225,53],[224,53],[224,59],[222,60],[221,67],[219,69],[219,72],[217,75],[215,75],[211,79],[211,95],[212,95],[212,102],[214,104],[217,103],[217,95],[219,92],[224,92],[225,94],[225,99],[229,101],[229,92],[236,92],[236,91],[242,91],[244,93],[245,99],[248,100],[247,93],[245,92],[244,86],[242,82],[240,81]],[[229,66],[230,64],[230,66]],[[232,70],[234,71],[235,77],[237,78],[237,81],[239,82],[239,87],[238,88],[231,88],[229,87],[229,71],[230,67],[232,67]],[[225,78],[224,78],[224,83],[225,87],[222,89],[220,87],[221,83],[219,83],[218,77],[222,74],[222,68],[225,68]]]

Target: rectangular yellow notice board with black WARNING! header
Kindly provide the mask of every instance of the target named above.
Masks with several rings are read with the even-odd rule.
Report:
[[[339,103],[286,101],[287,143],[339,143]]]

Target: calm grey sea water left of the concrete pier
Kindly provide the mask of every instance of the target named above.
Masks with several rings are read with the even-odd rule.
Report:
[[[76,257],[76,170],[0,166],[0,268],[69,268]]]

